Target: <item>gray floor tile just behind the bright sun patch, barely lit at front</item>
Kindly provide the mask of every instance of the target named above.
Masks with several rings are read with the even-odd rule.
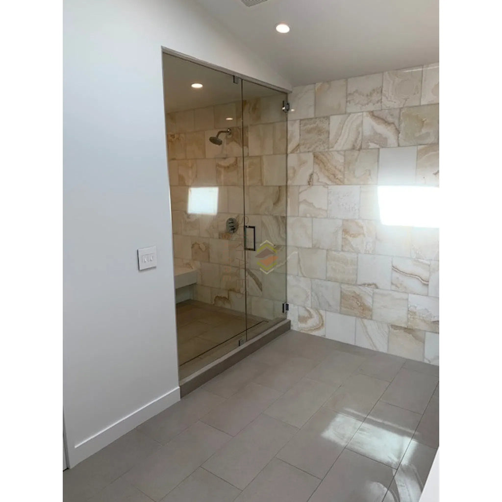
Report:
[[[382,397],[388,385],[385,380],[356,373],[345,380],[324,406],[362,421]]]

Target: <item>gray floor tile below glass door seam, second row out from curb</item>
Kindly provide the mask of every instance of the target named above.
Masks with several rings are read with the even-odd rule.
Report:
[[[201,420],[220,431],[235,436],[279,396],[281,396],[280,392],[251,382]]]

